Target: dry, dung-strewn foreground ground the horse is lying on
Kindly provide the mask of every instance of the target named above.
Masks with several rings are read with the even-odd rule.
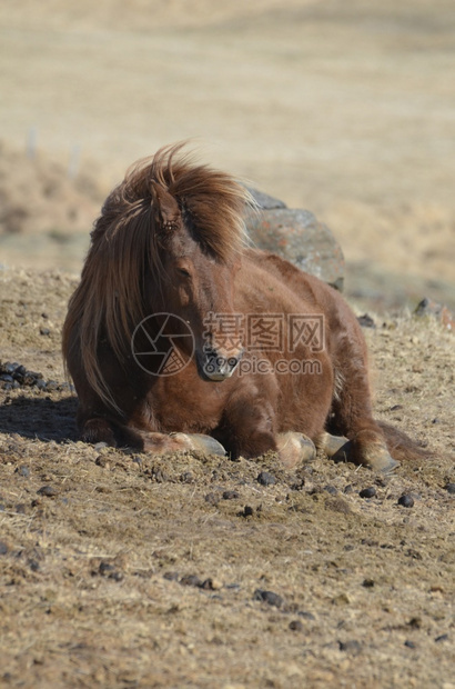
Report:
[[[125,455],[77,441],[60,357],[75,279],[1,280],[2,363],[47,383],[0,390],[1,686],[453,689],[451,332],[365,329],[377,417],[435,453],[391,478],[324,456],[289,472],[273,455]]]

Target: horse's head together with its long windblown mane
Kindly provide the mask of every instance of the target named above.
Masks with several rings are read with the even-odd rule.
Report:
[[[229,174],[179,158],[181,148],[139,161],[109,194],[71,300],[64,349],[78,343],[90,386],[114,408],[100,352],[112,351],[123,367],[142,352],[143,368],[160,373],[161,355],[174,352],[169,334],[179,334],[166,331],[171,320],[186,336],[175,348],[188,358],[194,342],[206,380],[229,378],[242,355],[234,279],[252,199]]]

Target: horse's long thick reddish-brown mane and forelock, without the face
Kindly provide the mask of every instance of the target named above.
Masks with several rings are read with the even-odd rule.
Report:
[[[144,277],[160,280],[156,188],[176,201],[181,218],[202,250],[220,262],[239,252],[245,238],[246,188],[231,176],[196,164],[184,143],[139,160],[109,194],[91,233],[81,281],[63,326],[63,356],[77,353],[90,386],[117,408],[98,358],[102,339],[120,362],[131,353],[131,336],[150,313]],[[150,309],[150,306],[149,306]],[[74,348],[74,349],[73,349]]]

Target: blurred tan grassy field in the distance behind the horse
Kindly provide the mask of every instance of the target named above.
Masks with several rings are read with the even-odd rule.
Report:
[[[306,208],[375,308],[455,307],[453,0],[1,0],[0,263],[79,272],[136,158]]]

